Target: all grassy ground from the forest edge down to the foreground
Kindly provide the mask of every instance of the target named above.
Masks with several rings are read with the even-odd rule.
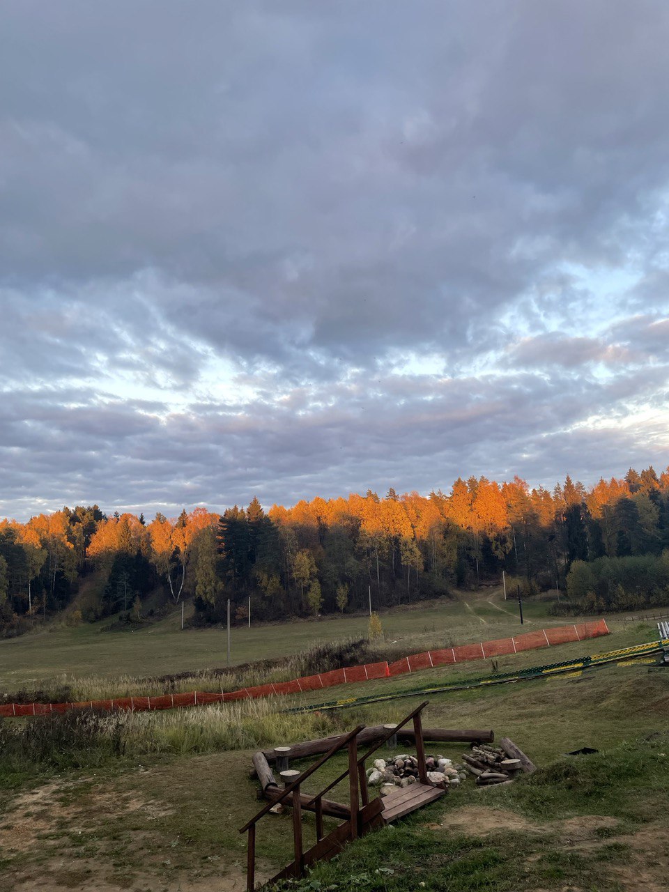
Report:
[[[455,604],[393,610],[389,640],[407,652],[437,643],[501,637],[521,631],[499,594],[467,594]],[[549,619],[528,606],[529,631]],[[2,678],[12,685],[54,673],[156,673],[222,662],[202,642],[224,632],[180,632],[177,618],[135,633],[80,627],[2,642]],[[324,638],[364,633],[365,617],[235,631],[235,656],[274,656]],[[497,661],[500,672],[652,640],[653,624],[609,621],[613,634]],[[243,635],[249,639],[243,642]],[[55,641],[57,653],[51,642]],[[78,641],[78,649],[70,647]],[[118,642],[118,643],[117,643]],[[181,649],[176,651],[176,642]],[[4,648],[9,645],[9,648]],[[16,648],[12,650],[12,647]],[[103,669],[95,659],[100,652]],[[122,650],[123,660],[112,651]],[[142,650],[148,651],[142,653]],[[171,648],[171,649],[170,649]],[[63,652],[61,652],[61,650]],[[240,656],[240,651],[244,657]],[[9,654],[19,657],[12,665]],[[145,662],[143,662],[145,661]],[[36,664],[35,666],[32,663]],[[151,666],[151,668],[145,668]],[[490,660],[365,685],[346,696],[466,681],[491,672]],[[32,673],[32,674],[31,674]],[[343,689],[325,691],[337,696]],[[397,721],[417,704],[409,697],[333,713],[277,714],[298,698],[252,701],[167,714],[124,714],[91,727],[41,720],[0,723],[0,892],[242,892],[245,839],[237,832],[258,809],[250,777],[252,751],[331,734],[356,723]],[[322,697],[320,697],[322,699]],[[422,698],[421,698],[422,699]],[[540,766],[512,787],[476,789],[467,781],[408,820],[349,847],[318,867],[304,892],[659,892],[664,890],[669,833],[669,672],[624,665],[478,690],[429,696],[426,727],[491,728],[508,735]],[[71,714],[70,714],[71,715]],[[4,737],[3,737],[4,735]],[[577,747],[597,756],[571,757]],[[457,760],[464,747],[440,745]],[[428,752],[436,752],[428,747]],[[316,792],[343,760],[333,760],[307,789]],[[333,798],[345,799],[335,789]],[[304,817],[306,844],[313,819]],[[262,822],[258,876],[290,859],[290,814]]]

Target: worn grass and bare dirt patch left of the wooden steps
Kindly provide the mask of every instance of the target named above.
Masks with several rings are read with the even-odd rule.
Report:
[[[244,892],[245,839],[231,799],[240,783],[228,796],[221,782],[234,759],[196,757],[22,792],[0,814],[0,892]],[[276,871],[257,859],[259,881]]]

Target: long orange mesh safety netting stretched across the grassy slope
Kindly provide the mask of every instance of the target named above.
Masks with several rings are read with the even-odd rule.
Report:
[[[582,641],[608,635],[607,622],[604,619],[591,623],[563,625],[552,629],[541,629],[539,632],[524,632],[514,638],[500,638],[493,641],[482,641],[479,644],[461,644],[456,648],[426,650],[421,654],[402,657],[394,663],[368,663],[367,665],[347,666],[345,669],[333,669],[331,672],[318,675],[306,675],[293,681],[277,681],[274,684],[260,684],[253,688],[231,690],[227,693],[211,691],[192,691],[188,694],[162,694],[159,697],[123,697],[113,700],[84,700],[78,703],[4,703],[0,705],[0,717],[11,718],[21,715],[45,715],[64,713],[69,709],[92,707],[102,710],[129,710],[140,712],[154,709],[175,709],[179,706],[204,706],[211,703],[229,703],[232,700],[244,700],[259,697],[271,697],[277,694],[298,694],[303,690],[319,690],[332,688],[338,684],[352,684],[356,681],[392,678],[433,666],[453,665],[469,660],[480,660],[487,657],[501,657],[515,654],[523,650],[548,648],[555,644],[566,644],[569,641]]]

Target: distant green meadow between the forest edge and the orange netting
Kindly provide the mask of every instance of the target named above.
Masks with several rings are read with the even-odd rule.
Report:
[[[521,626],[515,602],[505,603],[498,591],[396,607],[385,611],[382,620],[385,639],[401,643],[404,653],[412,653],[565,624],[563,617],[549,616],[548,607],[546,603],[526,603]],[[181,632],[179,624],[180,615],[173,614],[128,632],[104,632],[106,624],[99,623],[53,627],[0,640],[0,690],[35,688],[62,675],[153,676],[226,665],[224,629]],[[622,621],[614,621],[613,627],[622,625]],[[364,615],[238,627],[232,631],[231,663],[286,657],[318,641],[364,637],[367,630]]]

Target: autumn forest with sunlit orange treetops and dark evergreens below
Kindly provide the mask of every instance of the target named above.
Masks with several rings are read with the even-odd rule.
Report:
[[[458,478],[448,493],[301,500],[265,511],[257,498],[222,515],[169,519],[62,508],[0,522],[0,633],[64,611],[145,622],[194,599],[194,624],[319,615],[505,580],[531,598],[556,588],[556,610],[596,613],[669,602],[669,468],[630,468],[586,489],[519,477]],[[161,597],[156,599],[156,592]],[[147,605],[151,603],[152,607]]]

